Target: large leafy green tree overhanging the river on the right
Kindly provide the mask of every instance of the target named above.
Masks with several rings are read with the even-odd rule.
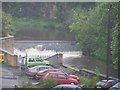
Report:
[[[109,5],[112,5],[112,9],[110,10],[110,22],[108,21]],[[76,39],[85,55],[94,56],[100,60],[106,60],[107,30],[109,28],[110,32],[114,33],[117,30],[115,28],[117,16],[116,5],[117,3],[96,3],[96,6],[89,10],[73,9],[73,20],[69,28],[76,34]],[[109,27],[108,23],[110,24]],[[112,31],[113,28],[115,30]],[[117,36],[113,35],[113,38],[115,37]],[[117,43],[115,44],[114,42],[114,45],[117,45]],[[115,56],[115,52],[116,50],[112,53],[113,56]],[[116,62],[116,60],[113,61]]]

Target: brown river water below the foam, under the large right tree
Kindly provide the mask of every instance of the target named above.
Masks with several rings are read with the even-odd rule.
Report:
[[[91,71],[95,71],[98,68],[101,74],[106,75],[106,63],[100,60],[87,57],[66,58],[64,59],[64,64],[78,69],[86,68]],[[113,65],[109,65],[109,76],[118,78],[118,69],[114,69]]]

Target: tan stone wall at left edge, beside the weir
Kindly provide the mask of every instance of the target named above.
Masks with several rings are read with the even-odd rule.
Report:
[[[16,56],[14,55],[14,37],[0,38],[0,53],[4,54],[4,60],[8,65],[16,66]]]

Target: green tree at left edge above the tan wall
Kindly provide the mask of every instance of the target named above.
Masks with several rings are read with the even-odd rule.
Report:
[[[2,36],[15,34],[15,28],[12,23],[12,16],[2,12]]]

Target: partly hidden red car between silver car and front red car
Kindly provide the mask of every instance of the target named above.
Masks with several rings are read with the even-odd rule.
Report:
[[[42,77],[44,77],[49,72],[63,72],[63,71],[60,70],[60,69],[56,69],[56,68],[49,68],[49,69],[37,72],[35,78],[36,79],[41,79]]]

